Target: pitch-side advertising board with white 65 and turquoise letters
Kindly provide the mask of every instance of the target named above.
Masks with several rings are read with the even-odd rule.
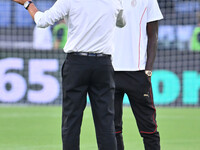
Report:
[[[0,49],[0,104],[61,104],[65,57],[62,50]],[[157,106],[200,106],[200,53],[158,51],[152,86]]]

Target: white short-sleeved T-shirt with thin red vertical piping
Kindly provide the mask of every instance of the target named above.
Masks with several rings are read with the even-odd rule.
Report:
[[[163,18],[157,0],[124,0],[126,26],[116,29],[113,67],[115,71],[145,70],[148,22]]]

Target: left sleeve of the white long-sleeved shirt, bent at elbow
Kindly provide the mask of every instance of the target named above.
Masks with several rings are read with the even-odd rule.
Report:
[[[37,27],[45,28],[63,19],[69,14],[70,0],[57,0],[55,4],[45,12],[38,11],[34,15]]]

